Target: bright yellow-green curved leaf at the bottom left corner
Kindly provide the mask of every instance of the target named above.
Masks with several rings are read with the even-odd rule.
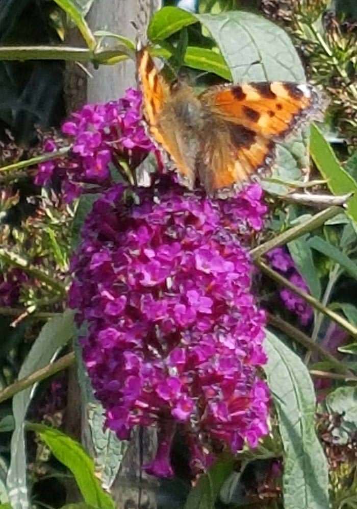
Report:
[[[84,501],[98,509],[114,509],[110,495],[101,487],[94,475],[94,462],[81,444],[55,428],[43,424],[27,424],[27,428],[39,433],[53,455],[65,465],[77,481]]]

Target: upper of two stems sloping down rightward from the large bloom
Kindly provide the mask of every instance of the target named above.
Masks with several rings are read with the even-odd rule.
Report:
[[[303,290],[301,290],[301,288],[295,286],[288,279],[275,272],[273,269],[269,267],[269,265],[264,263],[264,261],[256,260],[256,265],[260,268],[262,272],[264,272],[271,279],[292,290],[292,292],[301,297],[305,302],[308,302],[308,304],[310,304],[312,307],[325,314],[328,318],[336,322],[343,329],[347,330],[347,332],[351,334],[351,336],[357,337],[357,328],[353,327],[353,325],[347,322],[347,320],[341,317],[338,313],[335,313],[335,311],[331,311],[331,309],[324,306],[320,301],[315,299],[315,297],[308,294],[307,292],[304,292]]]

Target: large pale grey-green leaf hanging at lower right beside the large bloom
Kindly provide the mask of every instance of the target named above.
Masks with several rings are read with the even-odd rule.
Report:
[[[265,366],[284,445],[285,509],[326,509],[328,470],[315,433],[315,392],[301,359],[267,330]]]

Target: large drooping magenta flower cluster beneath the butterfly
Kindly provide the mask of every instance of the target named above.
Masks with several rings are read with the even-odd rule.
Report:
[[[136,191],[136,205],[123,199],[116,185],[94,204],[72,260],[85,365],[120,439],[138,424],[159,428],[148,472],[172,475],[177,426],[201,471],[217,444],[256,447],[268,431],[268,389],[257,375],[265,314],[242,246],[262,227],[262,189],[211,201],[164,176],[155,190]]]

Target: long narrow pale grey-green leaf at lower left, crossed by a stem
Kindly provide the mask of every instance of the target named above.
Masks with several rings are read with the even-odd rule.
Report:
[[[42,327],[24,360],[18,378],[44,368],[74,335],[73,311],[66,311]],[[11,461],[7,477],[9,500],[13,509],[28,509],[27,465],[24,442],[24,420],[36,385],[17,393],[12,400],[15,430],[11,438]]]

